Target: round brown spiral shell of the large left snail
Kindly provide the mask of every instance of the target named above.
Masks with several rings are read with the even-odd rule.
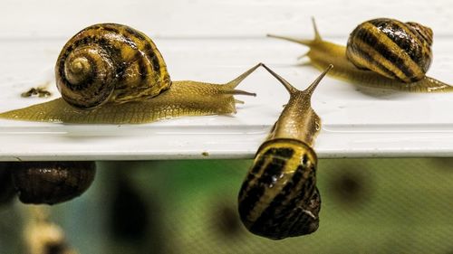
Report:
[[[83,109],[149,99],[171,84],[154,42],[121,24],[95,24],[75,34],[58,57],[55,79],[63,99]]]

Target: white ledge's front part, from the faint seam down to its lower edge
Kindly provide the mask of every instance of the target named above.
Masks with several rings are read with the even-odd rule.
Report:
[[[341,41],[340,41],[341,42]],[[429,76],[453,83],[453,38],[436,40]],[[60,40],[0,43],[0,111],[46,99],[20,93],[51,81]],[[307,49],[272,39],[156,40],[173,80],[232,80],[259,61],[304,89],[318,75],[296,64]],[[0,120],[0,161],[252,158],[287,101],[285,89],[259,69],[239,86],[233,116],[178,118],[144,125],[64,125]],[[51,99],[53,99],[51,98]],[[453,155],[453,93],[363,89],[325,78],[313,96],[323,120],[314,149],[321,158]]]

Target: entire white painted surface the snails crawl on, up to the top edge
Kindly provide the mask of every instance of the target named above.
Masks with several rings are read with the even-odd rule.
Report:
[[[209,23],[199,20],[199,16],[182,14],[175,0],[169,4],[175,6],[172,12],[167,12],[168,24],[159,19],[163,15],[162,10],[167,10],[163,4],[159,4],[161,12],[157,12],[157,17],[145,17],[140,8],[135,9],[137,15],[130,16],[130,22],[127,16],[120,14],[120,8],[124,8],[125,4],[109,2],[112,3],[110,8],[114,9],[112,12],[119,15],[102,14],[80,21],[71,12],[67,20],[61,18],[54,23],[51,20],[55,17],[46,15],[61,15],[59,11],[64,6],[58,4],[59,1],[50,1],[55,2],[56,7],[37,14],[32,10],[38,8],[38,2],[31,1],[22,9],[16,4],[18,2],[26,1],[6,1],[6,8],[0,11],[1,19],[11,16],[14,10],[31,15],[30,20],[18,21],[14,29],[9,25],[14,22],[0,23],[0,28],[5,30],[0,35],[0,111],[45,101],[39,98],[23,99],[20,94],[48,81],[53,91],[50,99],[58,97],[54,88],[53,64],[63,43],[85,25],[101,22],[101,19],[136,26],[151,37],[155,34],[154,41],[167,61],[172,80],[222,83],[263,61],[295,87],[303,89],[320,73],[310,66],[298,64],[297,56],[306,52],[307,48],[265,38],[266,32],[313,36],[310,16],[315,14],[324,39],[344,44],[348,31],[366,19],[382,15],[402,20],[419,17],[418,21],[428,22],[435,31],[435,59],[429,76],[453,83],[453,33],[449,32],[453,31],[453,24],[445,23],[453,14],[453,8],[448,1],[434,1],[432,9],[419,9],[421,14],[431,14],[430,17],[415,14],[416,6],[422,4],[416,1],[410,5],[408,14],[392,13],[377,5],[371,14],[352,14],[350,19],[338,15],[338,22],[334,22],[333,6],[323,11],[321,4],[310,4],[304,13],[303,6],[296,4],[300,1],[284,1],[278,8],[270,1],[237,1],[236,5],[226,5],[221,1],[208,5],[207,1],[199,1],[196,6],[214,12],[207,14],[207,17],[213,18],[218,13],[220,21]],[[130,5],[140,4],[136,2],[131,1]],[[330,2],[333,1],[326,1]],[[353,4],[353,1],[350,2]],[[249,11],[254,7],[262,11],[256,14],[256,24],[253,17],[242,17],[245,11],[238,10],[239,5],[246,6]],[[200,12],[197,7],[190,6],[187,11]],[[220,7],[224,7],[230,15],[221,12]],[[371,7],[371,4],[361,4],[352,11]],[[77,7],[73,8],[76,12]],[[313,13],[308,13],[310,10]],[[271,12],[273,19],[269,17],[265,23],[258,24],[265,20],[265,14]],[[323,13],[326,15],[323,16]],[[177,14],[185,15],[186,21],[181,21]],[[285,19],[284,15],[288,18]],[[232,16],[235,18],[230,21],[228,18]],[[244,18],[242,26],[238,21],[241,17]],[[28,24],[32,19],[36,24],[31,27]],[[149,21],[144,23],[147,19]],[[156,29],[156,23],[152,21],[167,25],[169,30]],[[177,22],[179,26],[175,24]],[[193,25],[197,24],[201,26],[195,33]],[[214,31],[212,27],[217,28]],[[262,69],[244,80],[239,88],[254,91],[257,97],[237,97],[246,103],[239,105],[237,114],[232,116],[178,118],[120,126],[0,120],[0,161],[252,158],[278,118],[288,94]],[[315,91],[313,108],[323,120],[322,131],[314,146],[319,157],[453,155],[453,93],[416,94],[363,89],[327,77]]]

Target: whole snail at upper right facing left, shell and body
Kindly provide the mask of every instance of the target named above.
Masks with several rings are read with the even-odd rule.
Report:
[[[323,41],[313,19],[313,40],[268,34],[301,43],[319,70],[333,64],[329,75],[356,84],[410,92],[452,91],[453,87],[425,75],[432,60],[432,30],[421,24],[378,18],[351,33],[346,47]]]

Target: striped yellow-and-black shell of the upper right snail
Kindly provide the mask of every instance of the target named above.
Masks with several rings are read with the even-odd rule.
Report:
[[[359,69],[411,83],[423,79],[429,69],[432,36],[421,24],[373,19],[352,31],[346,56]]]

